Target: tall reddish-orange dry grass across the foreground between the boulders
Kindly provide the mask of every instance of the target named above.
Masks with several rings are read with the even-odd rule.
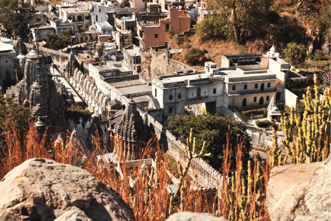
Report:
[[[106,153],[98,138],[94,139],[93,151],[86,153],[82,151],[83,148],[80,148],[79,144],[71,144],[69,139],[66,143],[57,145],[54,142],[46,142],[46,135],[39,137],[34,124],[30,124],[23,146],[17,142],[19,136],[14,124],[8,125],[6,134],[8,146],[2,149],[0,155],[0,179],[25,160],[42,157],[63,164],[79,165],[104,184],[110,185],[132,208],[136,220],[165,220],[170,215],[169,211],[171,213],[177,211],[210,213],[229,220],[269,220],[265,202],[261,199],[268,184],[270,167],[268,163],[266,166],[261,166],[255,157],[254,163],[249,164],[248,171],[245,173],[241,157],[241,152],[245,148],[243,142],[237,146],[237,153],[234,153],[237,155],[236,171],[230,171],[230,155],[232,154],[230,142],[224,144],[225,159],[223,171],[221,171],[223,186],[219,186],[217,191],[201,190],[197,182],[185,179],[182,183],[182,191],[177,198],[172,199],[170,209],[171,196],[167,191],[171,183],[167,173],[170,171],[170,161],[163,159],[156,136],[140,153],[142,157],[154,157],[155,168],[149,168],[147,175],[141,175],[140,168],[130,169],[126,164],[121,164],[123,177],[117,173],[114,165],[106,162],[97,164],[97,155]],[[229,131],[228,137],[230,136]],[[117,142],[120,141],[114,139],[114,145],[117,145]],[[135,182],[133,188],[130,187],[130,177]],[[195,180],[194,177],[192,180]],[[218,195],[221,195],[221,200]]]

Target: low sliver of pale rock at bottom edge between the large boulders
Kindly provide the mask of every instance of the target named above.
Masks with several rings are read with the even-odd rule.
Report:
[[[174,213],[166,221],[226,221],[204,213],[181,212]]]

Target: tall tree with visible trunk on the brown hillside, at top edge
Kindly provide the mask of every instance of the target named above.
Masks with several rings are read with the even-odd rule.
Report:
[[[208,1],[210,14],[219,14],[217,19],[228,18],[228,26],[237,44],[240,44],[240,29],[250,30],[258,36],[268,25],[269,0],[211,0]]]

